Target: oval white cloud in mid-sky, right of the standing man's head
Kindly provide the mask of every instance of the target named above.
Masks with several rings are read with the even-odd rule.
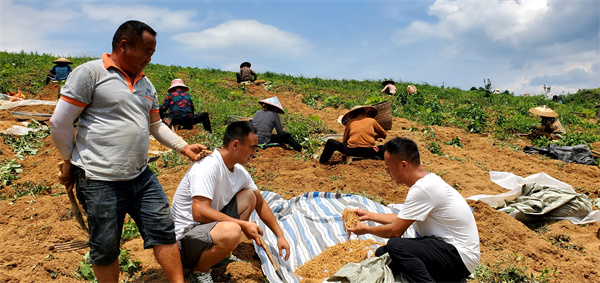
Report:
[[[233,20],[199,32],[173,36],[201,58],[232,55],[297,57],[311,44],[301,36],[256,20]]]

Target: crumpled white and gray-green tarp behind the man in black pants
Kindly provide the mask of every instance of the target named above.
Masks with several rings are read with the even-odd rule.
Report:
[[[600,222],[600,211],[592,211],[589,197],[578,194],[571,185],[546,173],[523,178],[508,172],[491,171],[490,179],[510,191],[499,195],[475,195],[467,199],[481,200],[496,208],[503,207],[500,210],[522,221],[532,220],[531,216],[536,215],[543,219],[566,219],[573,224]],[[512,206],[507,206],[511,203]],[[554,211],[561,206],[561,209]]]

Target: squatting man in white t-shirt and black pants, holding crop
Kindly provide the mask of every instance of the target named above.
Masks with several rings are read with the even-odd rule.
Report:
[[[375,252],[386,252],[390,268],[410,282],[456,282],[479,264],[479,234],[473,212],[465,199],[442,178],[421,167],[419,149],[410,139],[396,137],[385,144],[385,166],[397,184],[410,189],[400,213],[380,214],[356,209],[360,221],[348,230],[357,235],[389,238]],[[401,238],[414,225],[418,238]]]

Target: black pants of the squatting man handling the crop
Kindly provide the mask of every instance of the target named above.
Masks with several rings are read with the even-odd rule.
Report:
[[[460,282],[471,274],[456,248],[440,239],[391,238],[375,255],[386,252],[392,272],[402,273],[409,282]]]

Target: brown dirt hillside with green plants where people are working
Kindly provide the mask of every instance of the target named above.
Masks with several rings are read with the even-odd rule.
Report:
[[[28,56],[40,62],[38,57],[23,55],[24,58]],[[29,74],[43,73],[46,67],[50,68],[37,66]],[[184,79],[191,87],[195,101],[197,99],[201,105],[199,108],[211,114],[216,131],[209,135],[195,128],[178,133],[189,141],[212,146],[218,145],[229,115],[250,116],[258,110],[259,99],[278,96],[287,111],[282,115],[284,128],[299,137],[308,149],[302,155],[279,147],[260,150],[247,167],[262,190],[281,194],[286,199],[305,192],[325,191],[361,194],[384,204],[403,202],[407,188],[393,183],[382,161],[359,160],[345,164],[336,153],[332,164],[321,165],[310,158],[322,150],[319,140],[322,135],[343,131],[343,126],[337,123],[339,115],[355,104],[383,100],[392,101],[395,116],[388,139],[403,136],[415,140],[425,169],[440,175],[463,197],[504,192],[490,181],[490,171],[512,172],[523,177],[545,172],[572,185],[580,193],[591,198],[600,197],[598,166],[564,163],[523,153],[523,146],[531,142],[520,139],[516,133],[523,132],[521,128],[525,125],[536,122],[535,118],[526,115],[528,107],[539,102],[554,103],[541,97],[515,98],[511,94],[502,94],[485,98],[478,91],[426,84],[417,84],[420,90],[417,96],[388,97],[378,93],[380,85],[377,82],[369,81],[293,78],[267,73],[259,74],[259,79],[267,81],[265,85],[241,88],[236,85],[232,73],[219,70],[152,65],[146,73],[158,90],[166,89],[172,78]],[[33,80],[3,75],[0,92],[30,89],[31,92],[26,92],[28,98],[56,100],[56,84],[38,89]],[[407,84],[401,82],[398,85]],[[593,99],[598,93],[600,89],[582,91],[579,96],[591,95]],[[161,94],[161,98],[164,95]],[[575,142],[600,149],[598,121],[590,114],[595,102],[576,103],[584,100],[580,97],[576,94],[565,96],[563,101],[568,98],[573,103],[552,104],[551,107],[561,115],[566,113],[563,125],[572,132]],[[19,110],[49,113],[53,109],[41,106]],[[477,113],[483,113],[485,121],[475,119]],[[6,110],[0,111],[0,119],[2,130],[18,122]],[[446,144],[456,138],[462,147]],[[86,252],[84,249],[55,253],[48,249],[54,243],[86,238],[71,215],[64,187],[57,184],[58,152],[49,136],[42,141],[36,154],[24,154],[23,159],[16,156],[16,150],[6,139],[0,143],[0,160],[15,160],[22,169],[18,179],[0,189],[2,282],[73,282],[78,276],[78,263]],[[437,146],[435,153],[428,150],[432,145]],[[166,150],[155,142],[151,147],[151,150]],[[170,199],[189,166],[188,161],[173,154],[163,154],[152,166]],[[41,192],[34,193],[37,191]],[[568,221],[550,221],[525,225],[485,203],[469,201],[469,204],[477,220],[482,252],[481,267],[472,282],[497,281],[498,277],[491,279],[491,276],[503,274],[504,278],[513,279],[512,282],[534,279],[600,282],[600,223],[573,225]],[[152,252],[142,249],[139,237],[125,242],[122,247],[130,249],[131,258],[141,262],[141,270],[129,281],[166,280]],[[228,282],[264,280],[260,262],[248,240],[234,254],[249,263],[231,263],[216,269],[213,278]]]

